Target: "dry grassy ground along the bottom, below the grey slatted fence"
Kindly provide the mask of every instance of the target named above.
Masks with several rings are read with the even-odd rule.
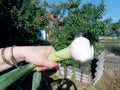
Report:
[[[51,78],[56,81],[54,84],[51,83],[52,90],[120,90],[120,74],[111,71],[104,71],[95,86],[83,84],[73,79],[64,79],[58,74],[53,74]]]

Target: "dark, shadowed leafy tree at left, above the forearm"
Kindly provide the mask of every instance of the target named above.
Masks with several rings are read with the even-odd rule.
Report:
[[[39,0],[1,0],[0,46],[31,45],[37,42],[35,29],[44,27],[47,4]],[[44,20],[40,17],[44,16]]]

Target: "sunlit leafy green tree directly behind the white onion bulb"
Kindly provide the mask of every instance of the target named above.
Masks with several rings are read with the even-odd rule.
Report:
[[[92,44],[98,42],[98,36],[106,33],[111,19],[101,20],[105,12],[104,2],[99,5],[86,3],[81,6],[81,0],[70,0],[54,6],[53,13],[63,18],[62,23],[55,22],[51,41],[60,50],[70,45],[72,40],[82,32]],[[72,60],[63,62],[73,64]]]

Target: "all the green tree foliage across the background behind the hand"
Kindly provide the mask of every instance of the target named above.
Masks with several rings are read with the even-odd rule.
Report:
[[[100,35],[111,35],[118,30],[120,21],[112,22],[112,18],[102,20],[106,13],[103,0],[99,5],[91,2],[81,5],[81,2],[69,0],[49,4],[46,0],[0,0],[0,47],[41,45],[43,40],[37,38],[36,29],[44,28],[48,32],[51,19],[46,16],[47,13],[63,20],[62,23],[53,21],[54,26],[50,29],[49,42],[56,50],[67,47],[81,33],[96,45]],[[61,63],[81,66],[73,60]]]

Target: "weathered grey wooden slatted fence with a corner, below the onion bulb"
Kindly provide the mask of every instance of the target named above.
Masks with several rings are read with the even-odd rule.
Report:
[[[78,68],[74,68],[72,66],[67,67],[67,78],[73,78],[75,77],[76,80],[82,82],[82,83],[89,83],[92,85],[95,85],[97,83],[97,81],[101,78],[101,76],[103,75],[103,70],[104,70],[104,61],[105,61],[105,52],[106,50],[104,50],[102,53],[100,53],[100,55],[98,55],[98,57],[96,57],[98,60],[96,62],[97,67],[95,67],[96,72],[94,73],[95,77],[92,78],[91,76],[91,71],[89,73],[85,73],[84,72],[84,68],[83,69],[78,69]],[[74,68],[74,70],[73,70]],[[64,67],[60,66],[59,68],[60,71],[60,75],[64,76]]]

